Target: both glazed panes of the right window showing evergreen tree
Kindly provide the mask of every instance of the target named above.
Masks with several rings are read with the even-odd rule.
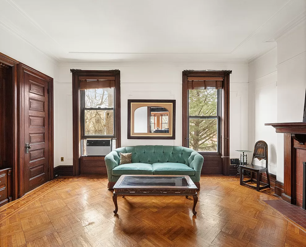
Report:
[[[188,90],[189,147],[198,152],[219,152],[220,89]]]

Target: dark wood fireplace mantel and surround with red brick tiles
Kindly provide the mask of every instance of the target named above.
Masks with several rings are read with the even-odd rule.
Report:
[[[265,125],[272,125],[277,133],[284,133],[284,193],[282,193],[282,199],[305,209],[303,162],[306,161],[306,122]]]

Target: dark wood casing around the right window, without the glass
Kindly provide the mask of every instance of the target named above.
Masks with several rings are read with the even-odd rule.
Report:
[[[219,152],[205,152],[200,153],[206,159],[213,159],[214,157],[222,162],[222,172],[219,174],[229,175],[230,168],[230,74],[231,70],[202,70],[202,71],[194,71],[194,70],[184,70],[182,73],[182,146],[188,147],[188,77],[222,77],[223,78],[223,87],[221,89],[221,93],[219,95],[221,105],[221,121],[220,121],[220,146]],[[203,167],[205,169],[205,167]],[[202,169],[203,171],[203,169]],[[211,173],[213,174],[213,173]]]

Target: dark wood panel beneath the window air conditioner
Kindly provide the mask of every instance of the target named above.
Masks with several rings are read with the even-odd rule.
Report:
[[[107,175],[105,156],[81,156],[81,174]]]

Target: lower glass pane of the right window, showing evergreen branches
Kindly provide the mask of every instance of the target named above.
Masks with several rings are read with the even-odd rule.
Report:
[[[218,152],[217,119],[189,119],[189,147],[198,152]]]

